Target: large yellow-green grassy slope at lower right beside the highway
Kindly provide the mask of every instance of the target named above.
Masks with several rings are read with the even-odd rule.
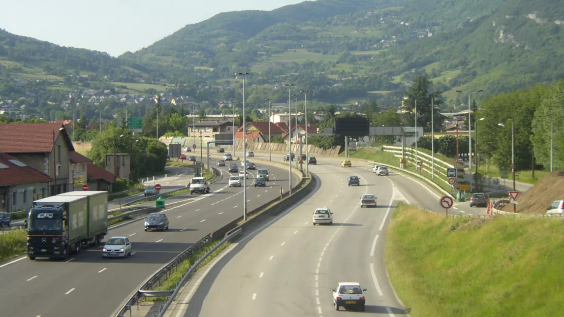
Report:
[[[446,219],[400,205],[386,267],[412,317],[559,316],[563,230],[554,219]]]

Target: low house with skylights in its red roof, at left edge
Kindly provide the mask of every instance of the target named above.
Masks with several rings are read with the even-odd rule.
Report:
[[[0,212],[30,209],[49,196],[51,178],[15,157],[0,152]]]

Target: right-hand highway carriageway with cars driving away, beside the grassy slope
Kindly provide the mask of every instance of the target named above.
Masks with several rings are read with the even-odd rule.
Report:
[[[320,179],[319,190],[236,241],[205,277],[191,281],[166,316],[349,315],[332,303],[329,289],[340,281],[367,288],[367,314],[407,314],[387,277],[386,225],[398,201],[443,212],[438,195],[394,171],[377,177],[369,166],[341,168],[325,157],[318,164],[310,171]],[[347,186],[350,175],[358,175],[361,186]],[[365,193],[378,197],[377,208],[360,208]],[[312,213],[321,207],[334,213],[332,226],[312,225]]]

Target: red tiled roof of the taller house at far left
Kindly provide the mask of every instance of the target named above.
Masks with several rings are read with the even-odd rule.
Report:
[[[63,125],[48,124],[0,124],[0,151],[4,153],[41,153],[53,149],[53,132],[65,139],[69,151],[74,151],[67,129]],[[59,133],[60,132],[60,133]]]

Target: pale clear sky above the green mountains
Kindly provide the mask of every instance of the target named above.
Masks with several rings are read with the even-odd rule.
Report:
[[[274,10],[303,0],[0,0],[0,29],[119,56],[221,12]]]

